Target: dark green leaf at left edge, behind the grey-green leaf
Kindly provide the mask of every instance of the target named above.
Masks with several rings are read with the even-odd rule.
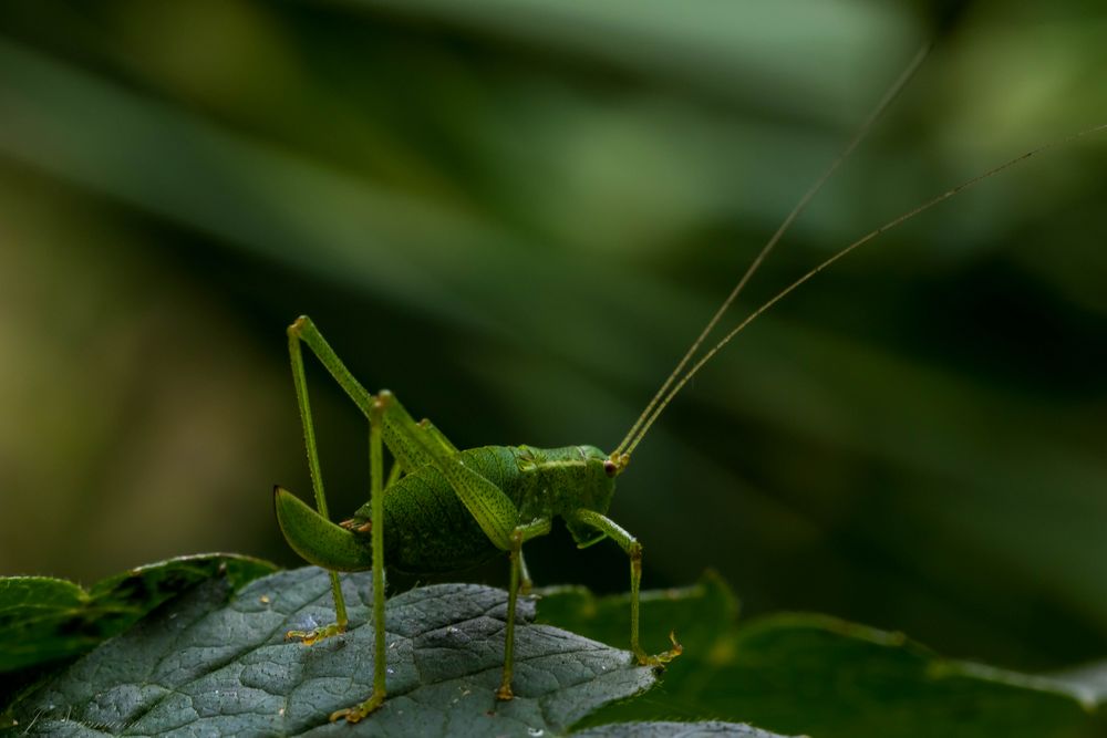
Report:
[[[249,557],[180,557],[110,576],[87,591],[49,576],[0,579],[0,673],[80,655],[163,602],[217,574],[240,586],[272,572]]]

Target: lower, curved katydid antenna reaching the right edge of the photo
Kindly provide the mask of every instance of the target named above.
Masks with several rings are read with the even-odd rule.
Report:
[[[815,277],[816,274],[818,274],[820,271],[823,271],[824,269],[826,269],[827,267],[829,267],[834,262],[838,261],[839,259],[841,259],[842,257],[845,257],[849,252],[853,251],[855,249],[860,248],[861,246],[868,243],[869,241],[871,241],[876,237],[880,236],[881,233],[883,233],[886,231],[889,231],[892,228],[896,228],[900,224],[902,224],[902,222],[904,222],[907,220],[910,220],[911,218],[915,217],[917,215],[919,215],[921,212],[925,212],[927,210],[929,210],[930,208],[934,207],[935,205],[950,199],[951,197],[953,197],[958,193],[961,193],[961,191],[963,191],[965,189],[969,189],[970,187],[972,187],[974,185],[977,185],[981,181],[983,181],[983,180],[985,180],[985,179],[987,179],[990,177],[993,177],[993,176],[1000,174],[1004,169],[1013,167],[1016,164],[1021,164],[1022,162],[1025,162],[1026,159],[1031,158],[1032,156],[1036,156],[1037,154],[1041,154],[1042,152],[1048,150],[1051,148],[1055,148],[1057,146],[1063,146],[1065,144],[1069,144],[1069,143],[1078,139],[1078,138],[1084,138],[1085,136],[1089,136],[1089,135],[1092,135],[1094,133],[1098,133],[1100,131],[1107,131],[1107,123],[1100,123],[1099,125],[1092,126],[1090,128],[1085,128],[1084,131],[1080,131],[1078,133],[1070,134],[1068,136],[1065,136],[1064,138],[1058,138],[1057,141],[1054,141],[1054,142],[1048,143],[1048,144],[1045,144],[1044,146],[1038,146],[1037,148],[1034,148],[1034,149],[1031,149],[1031,150],[1028,150],[1028,152],[1026,152],[1024,154],[1021,154],[1021,155],[1016,156],[1013,159],[1004,162],[1003,164],[1001,164],[997,167],[993,167],[992,169],[989,169],[987,171],[985,171],[982,175],[977,175],[977,176],[973,177],[972,179],[969,179],[966,181],[961,183],[960,185],[958,185],[956,187],[954,187],[952,189],[945,190],[941,195],[932,197],[931,199],[927,200],[922,205],[919,205],[918,207],[915,207],[915,208],[913,208],[911,210],[908,210],[907,212],[904,212],[903,215],[899,216],[898,218],[893,218],[893,219],[889,220],[888,222],[886,222],[880,228],[877,228],[876,230],[869,231],[868,233],[866,233],[861,238],[857,239],[856,241],[853,241],[852,243],[850,243],[846,248],[844,248],[840,251],[836,252],[834,256],[831,256],[830,258],[828,258],[826,261],[821,262],[820,264],[818,264],[817,267],[815,267],[814,269],[811,269],[809,272],[807,272],[806,274],[804,274],[803,277],[800,277],[799,279],[797,279],[795,282],[793,282],[788,287],[786,287],[783,290],[780,290],[779,292],[777,292],[772,299],[768,300],[768,302],[766,302],[765,304],[763,304],[761,308],[758,308],[754,312],[749,313],[749,315],[744,321],[742,321],[741,323],[738,323],[738,325],[736,328],[734,328],[730,333],[727,333],[725,336],[723,336],[723,339],[718,343],[716,343],[714,346],[712,346],[712,349],[706,354],[704,354],[702,358],[700,358],[695,364],[693,364],[692,368],[690,368],[687,371],[687,373],[683,377],[681,377],[680,382],[677,382],[673,386],[673,388],[669,392],[669,394],[665,395],[664,399],[661,401],[661,403],[658,405],[658,407],[653,410],[653,414],[650,415],[649,419],[646,419],[645,423],[642,425],[642,428],[641,428],[641,430],[639,430],[638,436],[634,438],[634,440],[631,441],[631,444],[627,447],[627,449],[623,451],[623,454],[625,454],[625,455],[629,456],[631,453],[633,453],[634,448],[642,440],[643,436],[645,436],[645,432],[650,429],[650,426],[653,425],[654,420],[656,420],[658,417],[661,415],[661,412],[665,409],[665,407],[669,405],[669,403],[672,402],[673,397],[676,396],[676,394],[684,387],[684,385],[686,385],[689,383],[689,381],[693,376],[695,376],[696,373],[701,368],[703,368],[704,364],[706,364],[708,361],[711,361],[711,358],[715,354],[717,354],[720,352],[720,350],[723,349],[723,346],[725,346],[727,343],[730,343],[731,340],[734,339],[734,336],[736,336],[738,333],[741,333],[742,331],[744,331],[751,323],[753,323],[755,320],[757,320],[757,318],[759,318],[762,315],[762,313],[764,313],[769,308],[772,308],[773,305],[775,305],[776,303],[778,303],[780,300],[784,300],[786,297],[788,297],[793,292],[793,290],[795,290],[796,288],[798,288],[800,284],[803,284],[807,280],[811,279],[813,277]]]

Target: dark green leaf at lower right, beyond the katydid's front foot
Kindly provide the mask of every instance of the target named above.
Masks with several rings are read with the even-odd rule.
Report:
[[[565,590],[547,595],[540,614],[618,642],[627,610],[624,595]],[[684,655],[658,689],[588,723],[714,717],[820,738],[1104,735],[1098,668],[1027,675],[945,658],[902,634],[823,615],[776,615],[741,627],[735,615],[734,596],[710,574],[694,588],[643,596],[643,637],[675,625]]]

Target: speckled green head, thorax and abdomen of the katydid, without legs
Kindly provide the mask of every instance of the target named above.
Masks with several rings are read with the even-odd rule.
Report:
[[[604,470],[608,456],[593,446],[532,448],[482,446],[461,453],[465,465],[499,487],[519,510],[519,523],[565,518],[579,543],[596,531],[568,516],[588,509],[607,513],[614,478]],[[477,565],[504,551],[480,530],[441,471],[413,469],[384,490],[384,561],[399,571],[432,574]],[[354,513],[371,517],[370,505]],[[369,533],[364,533],[369,537]]]

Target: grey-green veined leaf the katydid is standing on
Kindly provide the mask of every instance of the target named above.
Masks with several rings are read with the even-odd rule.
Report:
[[[415,589],[389,600],[389,699],[358,726],[331,711],[370,694],[370,576],[343,578],[351,628],[313,646],[284,632],[333,619],[315,568],[256,580],[237,594],[201,582],[122,636],[40,684],[11,711],[39,734],[531,735],[563,732],[608,703],[654,684],[631,655],[546,625],[516,631],[516,698],[495,700],[506,593],[474,584]],[[520,602],[524,621],[534,604]],[[17,727],[18,727],[17,726]]]

